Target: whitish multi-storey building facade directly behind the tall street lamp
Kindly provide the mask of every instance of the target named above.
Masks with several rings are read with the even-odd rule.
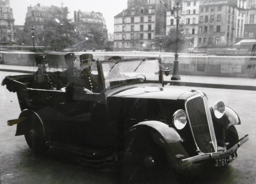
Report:
[[[173,6],[176,6],[174,2],[172,4]],[[183,1],[182,4],[180,4],[180,6],[182,6],[180,24],[184,28],[185,39],[189,42],[189,50],[197,47],[199,4],[199,0],[187,0]],[[177,21],[174,18],[173,10],[167,11],[166,35],[168,35],[170,29],[175,29],[176,25]]]

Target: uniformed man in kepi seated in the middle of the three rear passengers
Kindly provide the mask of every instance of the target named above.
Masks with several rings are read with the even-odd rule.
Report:
[[[62,78],[64,79],[63,85],[66,85],[72,75],[79,75],[81,73],[81,69],[76,67],[76,56],[74,53],[67,53],[64,55],[66,64],[68,65],[68,69],[62,72]]]

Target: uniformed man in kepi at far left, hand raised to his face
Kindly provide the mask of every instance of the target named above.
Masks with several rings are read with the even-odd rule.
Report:
[[[61,88],[62,83],[58,79],[57,75],[53,72],[47,71],[49,62],[47,56],[39,55],[35,59],[38,70],[24,79],[23,82],[28,83],[27,87],[44,90],[58,90]]]

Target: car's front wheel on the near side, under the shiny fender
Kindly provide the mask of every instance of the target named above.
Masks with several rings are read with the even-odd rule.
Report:
[[[153,142],[149,134],[129,140],[123,156],[122,183],[165,183],[171,173],[165,150]]]

